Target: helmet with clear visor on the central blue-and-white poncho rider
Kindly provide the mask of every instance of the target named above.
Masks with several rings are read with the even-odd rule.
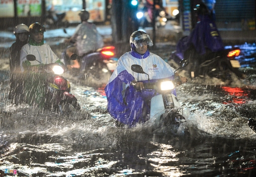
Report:
[[[142,42],[146,42],[149,46],[153,45],[150,36],[146,32],[142,30],[134,31],[130,37],[130,45],[134,43],[136,48],[139,48]]]

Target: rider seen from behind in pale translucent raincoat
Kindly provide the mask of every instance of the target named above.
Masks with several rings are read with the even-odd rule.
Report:
[[[79,12],[80,23],[75,30],[75,33],[69,38],[65,39],[64,42],[75,42],[74,46],[68,47],[66,54],[70,57],[72,54],[76,53],[82,56],[85,53],[93,52],[98,48],[103,47],[103,39],[98,33],[96,25],[88,22],[90,13],[85,9]],[[64,56],[66,57],[66,56]],[[73,60],[75,63],[71,67],[80,68],[80,61]]]

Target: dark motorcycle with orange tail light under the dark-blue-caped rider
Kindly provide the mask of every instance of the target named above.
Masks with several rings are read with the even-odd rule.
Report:
[[[235,59],[238,56],[240,49],[238,47],[226,48],[221,51],[213,52],[206,50],[203,55],[198,54],[194,47],[190,47],[184,53],[184,58],[188,58],[189,66],[186,67],[190,77],[193,79],[197,76],[204,77],[208,75],[210,77],[216,77],[223,80],[230,79],[231,72],[236,76],[242,77],[242,73],[239,71],[240,63]],[[175,63],[179,63],[183,58],[176,51],[172,52],[169,61],[172,60]]]

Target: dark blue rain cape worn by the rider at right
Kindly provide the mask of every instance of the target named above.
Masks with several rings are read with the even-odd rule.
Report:
[[[208,47],[213,52],[224,49],[219,31],[210,16],[199,15],[199,18],[200,21],[196,24],[190,35],[183,37],[177,43],[176,55],[181,59],[184,58],[183,54],[191,44],[193,44],[199,54],[205,54],[205,47]]]

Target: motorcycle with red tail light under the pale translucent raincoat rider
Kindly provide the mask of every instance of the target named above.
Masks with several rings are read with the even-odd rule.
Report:
[[[67,33],[65,29],[64,32]],[[73,43],[67,46],[67,48],[70,46],[73,46]],[[68,62],[66,50],[62,52],[62,56],[65,64],[73,64]],[[72,75],[78,77],[81,83],[95,88],[104,87],[114,71],[118,60],[115,57],[114,46],[104,46],[82,56],[76,55],[76,58],[80,67],[72,68]]]

